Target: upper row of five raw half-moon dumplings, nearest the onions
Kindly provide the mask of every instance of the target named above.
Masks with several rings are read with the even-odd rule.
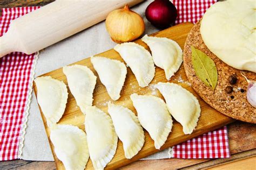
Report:
[[[121,55],[126,64],[129,65],[140,87],[149,86],[149,83],[152,81],[155,73],[154,63],[165,70],[166,79],[169,80],[177,72],[183,61],[182,51],[177,42],[167,38],[149,37],[147,35],[142,40],[150,46],[152,56],[143,46],[134,42],[118,44],[114,49]],[[111,99],[114,101],[118,100],[127,73],[125,64],[121,61],[101,56],[92,56],[91,62]],[[70,91],[80,109],[83,111],[87,106],[91,106],[93,89],[97,79],[93,72],[86,66],[81,65],[63,67],[63,72],[68,79]],[[41,108],[44,108],[44,115],[49,117],[48,123],[58,122],[61,114],[64,112],[64,107],[60,108],[58,102],[60,102],[60,105],[63,105],[62,103],[65,103],[67,100],[65,95],[67,96],[68,92],[65,84],[61,84],[61,82],[53,80],[49,76],[38,77],[35,82],[39,89],[38,103],[41,105]],[[56,84],[57,86],[55,86]],[[49,94],[47,94],[47,88],[49,87],[54,91],[50,90]],[[52,93],[56,93],[56,95],[51,96]],[[49,96],[53,103],[45,102],[45,100],[51,101],[47,100]]]

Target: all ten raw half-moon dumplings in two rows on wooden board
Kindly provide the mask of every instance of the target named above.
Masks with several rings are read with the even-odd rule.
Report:
[[[140,87],[148,86],[153,79],[154,63],[163,68],[166,79],[170,79],[182,62],[179,45],[167,38],[144,36],[142,40],[150,46],[152,56],[134,42],[117,45],[114,49],[129,65]],[[112,100],[118,100],[127,73],[124,63],[100,56],[92,56],[91,62],[107,93]],[[131,110],[111,102],[108,104],[109,116],[91,106],[97,77],[89,68],[81,65],[66,66],[63,72],[77,105],[86,115],[87,139],[85,132],[76,126],[56,124],[64,113],[68,99],[66,85],[50,76],[38,77],[35,82],[38,103],[51,129],[50,139],[58,159],[66,169],[83,169],[89,154],[93,167],[103,169],[116,153],[117,138],[123,142],[125,157],[131,159],[144,145],[142,126],[159,149],[171,132],[171,114],[183,125],[185,134],[192,133],[197,125],[199,102],[178,84],[160,82],[155,85],[164,96],[166,104],[156,96],[132,94],[130,98],[138,117]]]

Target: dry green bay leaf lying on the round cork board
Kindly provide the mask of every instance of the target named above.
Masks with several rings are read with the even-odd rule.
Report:
[[[218,72],[214,61],[199,49],[191,46],[192,51],[192,65],[196,75],[206,86],[212,88],[214,91],[217,86]]]

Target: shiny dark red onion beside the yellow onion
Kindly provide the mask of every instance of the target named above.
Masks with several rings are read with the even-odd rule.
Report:
[[[169,0],[155,0],[147,6],[147,20],[161,29],[169,27],[177,18],[177,9]]]

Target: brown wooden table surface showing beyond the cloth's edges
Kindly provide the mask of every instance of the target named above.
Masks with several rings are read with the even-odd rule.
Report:
[[[2,8],[42,6],[52,0],[0,1]],[[121,169],[256,169],[256,125],[234,122],[228,125],[231,158],[227,159],[161,159],[140,160]],[[55,162],[12,160],[0,162],[0,169],[56,169]]]

